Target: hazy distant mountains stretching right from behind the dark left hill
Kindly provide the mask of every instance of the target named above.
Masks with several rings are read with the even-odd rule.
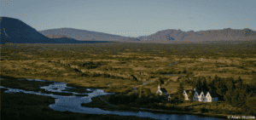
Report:
[[[39,31],[44,36],[65,35],[76,40],[96,40],[96,41],[119,41],[119,42],[177,42],[177,41],[194,41],[207,40],[219,41],[228,39],[255,39],[256,31],[250,29],[230,29],[210,30],[210,31],[181,31],[181,30],[163,30],[157,31],[149,36],[141,37],[122,37],[97,31],[86,31],[73,28],[59,28]]]

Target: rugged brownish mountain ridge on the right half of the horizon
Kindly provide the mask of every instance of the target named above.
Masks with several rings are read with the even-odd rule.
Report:
[[[236,30],[224,28],[223,30],[210,31],[181,31],[181,30],[164,30],[158,31],[153,35],[144,37],[149,41],[219,41],[228,39],[256,39],[256,31],[250,29]]]

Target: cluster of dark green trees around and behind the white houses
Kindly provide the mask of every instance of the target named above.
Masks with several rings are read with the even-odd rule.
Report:
[[[210,78],[210,77],[209,77]],[[253,82],[250,84],[243,83],[241,77],[235,80],[233,77],[221,78],[215,76],[212,80],[206,77],[198,77],[191,83],[192,87],[197,91],[204,90],[218,94],[218,100],[223,100],[225,103],[232,106],[244,109],[248,114],[256,114],[256,79],[253,77]],[[179,100],[183,100],[183,84],[177,90]],[[193,98],[193,94],[189,95]]]

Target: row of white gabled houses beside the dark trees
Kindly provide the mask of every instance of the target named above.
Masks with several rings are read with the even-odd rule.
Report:
[[[209,91],[196,91],[194,90],[184,90],[184,100],[189,100],[189,93],[194,94],[193,100],[203,101],[203,102],[212,102],[218,101],[218,95]]]

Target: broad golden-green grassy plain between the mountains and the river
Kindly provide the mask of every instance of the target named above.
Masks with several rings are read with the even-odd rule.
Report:
[[[241,77],[244,83],[250,83],[256,72],[256,50],[252,43],[9,43],[1,45],[1,76],[38,78],[102,89],[107,89],[108,83],[121,89],[153,81],[144,85],[153,93],[161,79],[165,82],[162,88],[172,94],[177,91],[178,77],[166,74],[191,79],[215,75]],[[177,64],[168,66],[174,61]],[[179,77],[179,80],[186,78]],[[185,89],[192,88],[185,85]]]

